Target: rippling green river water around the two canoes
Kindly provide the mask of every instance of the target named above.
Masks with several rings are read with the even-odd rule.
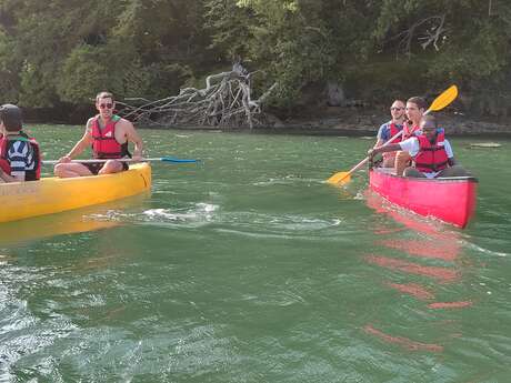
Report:
[[[82,128],[32,133],[57,159]],[[480,181],[460,230],[325,184],[362,138],[141,134],[202,163],[0,225],[0,382],[511,382],[511,141],[451,140]]]

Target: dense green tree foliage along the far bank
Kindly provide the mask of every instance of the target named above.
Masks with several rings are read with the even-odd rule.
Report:
[[[478,89],[511,97],[510,42],[503,0],[0,0],[0,91],[29,107],[158,99],[241,59],[255,93],[279,83],[278,107],[331,81],[370,101],[455,82],[487,104]]]

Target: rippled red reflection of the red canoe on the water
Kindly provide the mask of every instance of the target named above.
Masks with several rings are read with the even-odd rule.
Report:
[[[384,281],[383,285],[422,302],[425,304],[425,308],[422,306],[425,313],[428,310],[460,310],[472,305],[470,299],[457,300],[453,298],[452,301],[442,302],[437,296],[437,290],[441,290],[442,293],[445,291],[442,285],[462,282],[463,270],[460,262],[462,242],[459,231],[441,222],[429,221],[403,212],[370,191],[367,193],[367,204],[378,213],[388,215],[404,225],[402,230],[404,238],[400,239],[395,238],[395,230],[392,233],[392,239],[387,238],[390,231],[385,228],[375,228],[373,231],[374,245],[381,249],[382,254],[369,254],[364,256],[364,260],[392,272],[385,273],[385,276],[395,279],[395,281]],[[391,255],[383,254],[388,252],[387,250],[391,250]],[[425,285],[420,281],[425,281]],[[438,323],[439,326],[442,324],[444,323]],[[398,334],[385,333],[378,326],[385,326],[385,323],[380,325],[367,324],[363,330],[384,342],[398,344],[411,351],[441,352],[444,349],[444,344],[439,344],[444,343],[444,340],[439,343],[418,342]],[[419,332],[419,329],[412,332]],[[447,334],[447,339],[457,336],[459,336],[459,329]]]

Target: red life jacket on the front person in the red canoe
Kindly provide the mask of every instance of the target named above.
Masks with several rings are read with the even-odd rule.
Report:
[[[417,139],[420,145],[419,153],[413,158],[417,170],[431,173],[445,169],[449,158],[444,148],[443,129],[438,131],[434,143],[431,143],[425,134],[418,135]]]

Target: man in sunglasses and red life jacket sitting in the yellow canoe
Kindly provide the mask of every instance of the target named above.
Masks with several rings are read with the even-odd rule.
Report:
[[[129,167],[119,159],[130,158],[128,143],[134,144],[133,160],[142,159],[142,140],[133,124],[113,114],[116,102],[113,94],[100,92],[96,97],[98,114],[87,121],[86,132],[71,151],[59,160],[54,173],[60,178],[86,177],[92,174],[118,173]],[[86,148],[92,145],[94,159],[107,159],[107,162],[79,163],[71,160]]]

